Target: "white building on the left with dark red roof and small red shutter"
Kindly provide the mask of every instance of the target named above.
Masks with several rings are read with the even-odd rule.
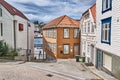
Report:
[[[4,0],[0,0],[0,40],[19,55],[34,52],[34,25],[28,18]]]

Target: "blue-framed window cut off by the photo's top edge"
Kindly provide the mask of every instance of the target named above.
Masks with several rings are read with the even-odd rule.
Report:
[[[102,13],[112,9],[112,0],[102,0]]]

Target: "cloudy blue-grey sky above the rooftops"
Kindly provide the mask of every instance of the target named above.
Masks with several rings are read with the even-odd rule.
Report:
[[[81,14],[96,0],[5,0],[23,12],[28,19],[40,22],[68,15],[80,19]]]

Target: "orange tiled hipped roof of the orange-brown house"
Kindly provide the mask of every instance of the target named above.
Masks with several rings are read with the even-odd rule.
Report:
[[[53,19],[48,24],[46,24],[43,29],[54,28],[54,27],[79,27],[80,21],[72,19],[67,15],[60,16]]]

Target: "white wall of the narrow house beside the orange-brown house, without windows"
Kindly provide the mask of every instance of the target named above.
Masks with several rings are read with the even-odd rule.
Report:
[[[90,32],[91,32],[91,27],[92,24],[95,25],[94,23],[94,19],[93,16],[91,14],[91,10],[89,9],[89,14],[90,17],[88,19],[84,19],[84,16],[82,16],[81,19],[81,55],[86,56],[86,62],[88,62],[87,58],[90,58],[90,62],[92,61],[92,58],[95,58],[95,54],[91,54],[91,53],[95,53],[95,49],[93,52],[91,52],[91,45],[96,44],[96,28],[94,27],[94,33],[88,33],[88,26],[86,25],[86,33],[82,32],[83,27],[85,27],[85,23],[88,23],[88,21],[90,21]],[[94,57],[91,57],[94,56]],[[95,59],[93,59],[93,64],[95,64]]]

